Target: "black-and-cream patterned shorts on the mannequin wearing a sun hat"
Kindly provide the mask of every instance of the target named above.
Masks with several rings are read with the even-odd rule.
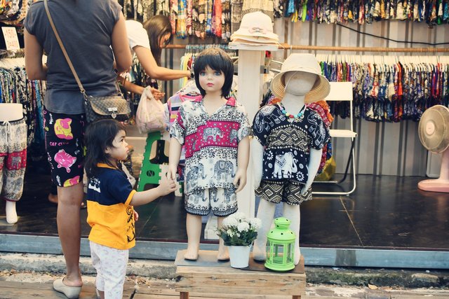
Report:
[[[302,183],[261,181],[259,188],[255,190],[255,195],[275,204],[279,204],[279,202],[301,204],[311,200],[311,188],[307,190],[305,195],[302,195],[302,187],[304,187]]]

